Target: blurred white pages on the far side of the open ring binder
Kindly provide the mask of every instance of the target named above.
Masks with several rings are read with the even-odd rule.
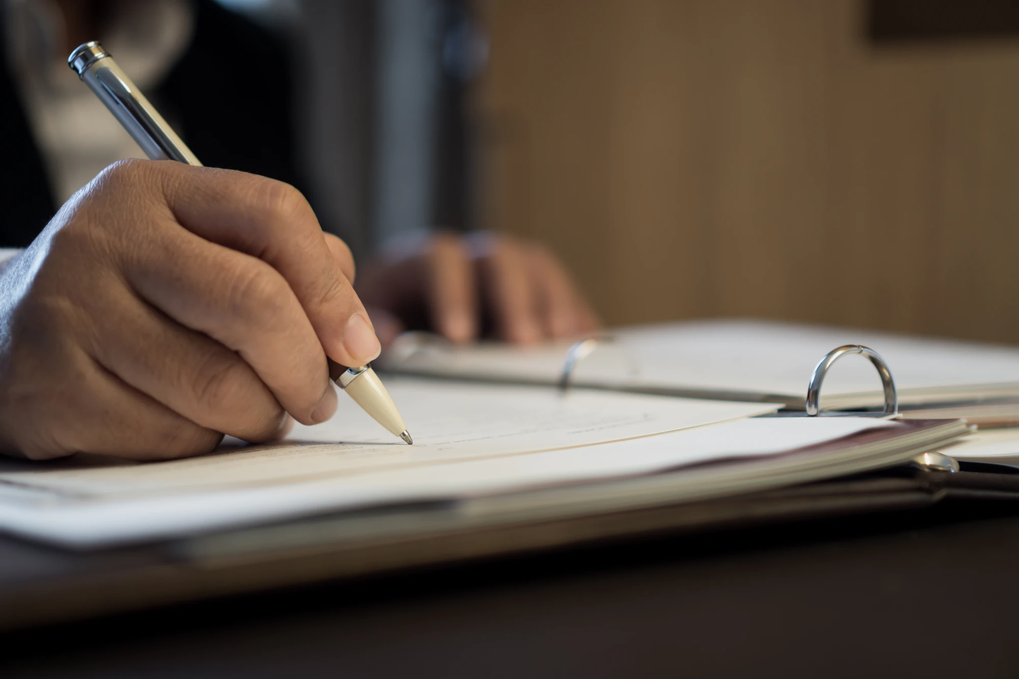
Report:
[[[582,360],[575,383],[679,387],[802,400],[817,362],[829,351],[861,344],[889,364],[901,396],[962,385],[1019,385],[1019,348],[873,330],[758,320],[687,321],[621,328]],[[552,382],[569,344],[517,349],[503,345],[425,346],[394,355],[393,367],[458,376]],[[873,366],[861,356],[829,370],[825,397],[878,393]],[[902,394],[905,393],[905,394]],[[876,401],[875,401],[876,405]]]

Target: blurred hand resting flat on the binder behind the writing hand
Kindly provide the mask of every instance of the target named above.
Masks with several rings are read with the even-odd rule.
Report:
[[[516,344],[598,328],[558,260],[534,243],[491,233],[409,237],[358,283],[383,345],[405,329],[466,343],[493,333]]]

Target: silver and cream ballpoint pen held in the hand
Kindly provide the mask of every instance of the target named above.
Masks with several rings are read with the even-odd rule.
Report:
[[[93,41],[79,46],[67,57],[67,64],[110,109],[149,158],[202,165],[102,45]],[[329,377],[376,422],[408,443],[414,442],[396,405],[370,365],[344,369],[329,359]]]

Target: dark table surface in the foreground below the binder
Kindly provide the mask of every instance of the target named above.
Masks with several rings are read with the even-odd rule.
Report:
[[[0,675],[1019,674],[1019,508],[659,537],[0,636]]]

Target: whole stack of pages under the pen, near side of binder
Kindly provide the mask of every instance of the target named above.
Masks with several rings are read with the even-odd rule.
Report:
[[[502,515],[591,511],[888,466],[967,432],[958,421],[748,420],[774,406],[604,390],[415,378],[388,386],[413,447],[341,399],[332,420],[274,446],[147,464],[12,461],[0,467],[0,528],[96,546],[424,501]],[[677,468],[686,471],[647,477]]]

